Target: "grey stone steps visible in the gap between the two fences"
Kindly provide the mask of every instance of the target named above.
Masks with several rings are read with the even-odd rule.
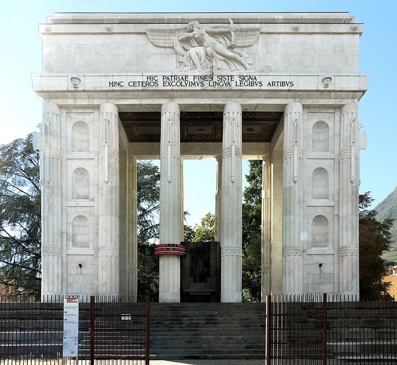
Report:
[[[265,359],[265,303],[151,303],[150,359]]]

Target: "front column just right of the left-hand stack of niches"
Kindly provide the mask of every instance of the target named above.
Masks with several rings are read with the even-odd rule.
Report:
[[[119,295],[119,111],[99,107],[98,294]]]

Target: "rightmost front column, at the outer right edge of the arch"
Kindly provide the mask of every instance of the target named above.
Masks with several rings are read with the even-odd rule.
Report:
[[[359,293],[357,103],[340,110],[339,149],[339,293]]]

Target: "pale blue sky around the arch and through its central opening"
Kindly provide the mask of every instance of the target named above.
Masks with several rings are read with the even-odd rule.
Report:
[[[32,91],[31,74],[42,72],[38,24],[54,12],[348,11],[356,22],[364,23],[359,72],[370,75],[369,89],[359,103],[359,121],[368,135],[368,148],[361,153],[360,191],[371,191],[377,204],[397,185],[395,0],[2,0],[0,11],[0,144],[24,137],[41,120],[41,102]],[[208,179],[198,179],[202,176]],[[190,224],[213,212],[214,188],[213,161],[185,164],[185,210],[191,213]]]

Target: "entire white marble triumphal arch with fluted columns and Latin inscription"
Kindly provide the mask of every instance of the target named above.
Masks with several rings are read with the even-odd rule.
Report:
[[[358,293],[354,16],[56,13],[39,32],[42,294],[136,293],[137,159],[160,160],[160,301],[180,300],[184,159],[217,161],[221,301],[241,301],[242,159],[263,160],[262,297]]]

